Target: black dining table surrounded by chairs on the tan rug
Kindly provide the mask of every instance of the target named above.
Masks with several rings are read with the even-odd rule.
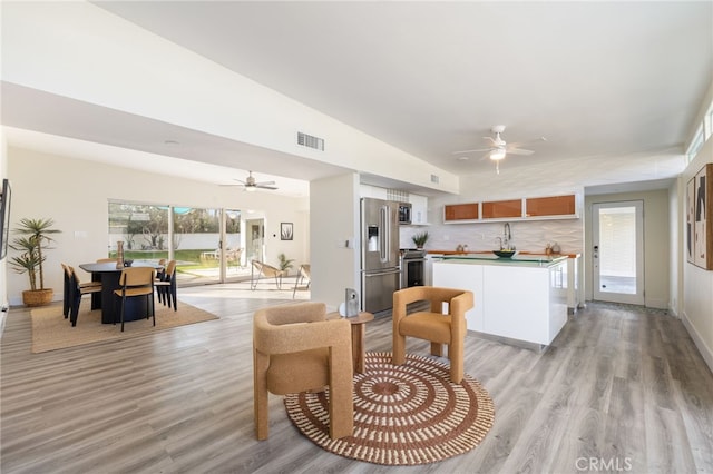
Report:
[[[134,260],[131,267],[152,267],[156,270],[163,268],[162,265],[150,260]],[[124,266],[117,266],[116,261],[102,261],[91,264],[80,264],[79,268],[91,274],[92,282],[101,282],[101,292],[91,295],[91,309],[101,309],[101,323],[114,324],[119,320],[120,303],[114,292],[120,289],[119,278]],[[153,295],[145,298],[127,298],[124,320],[136,320],[145,318],[149,313]]]

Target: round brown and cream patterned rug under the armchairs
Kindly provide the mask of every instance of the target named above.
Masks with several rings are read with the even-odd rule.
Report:
[[[492,427],[488,392],[469,375],[449,379],[438,361],[407,355],[391,365],[391,353],[367,353],[365,371],[354,376],[354,433],[329,436],[329,389],[284,398],[292,423],[315,444],[358,461],[383,465],[434,463],[478,446]]]

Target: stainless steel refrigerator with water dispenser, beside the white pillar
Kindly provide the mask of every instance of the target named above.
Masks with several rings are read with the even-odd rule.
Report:
[[[361,199],[361,307],[369,313],[390,309],[399,289],[399,204]]]

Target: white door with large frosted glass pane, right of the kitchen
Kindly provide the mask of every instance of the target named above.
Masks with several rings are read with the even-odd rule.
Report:
[[[644,203],[599,203],[592,208],[593,297],[644,304]]]

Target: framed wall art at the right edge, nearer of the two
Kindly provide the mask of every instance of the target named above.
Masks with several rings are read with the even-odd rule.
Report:
[[[693,264],[713,270],[713,164],[705,165],[693,181]]]

